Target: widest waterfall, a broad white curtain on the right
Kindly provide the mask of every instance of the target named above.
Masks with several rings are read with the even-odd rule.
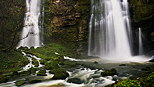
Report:
[[[92,0],[88,55],[131,57],[131,29],[127,0]]]

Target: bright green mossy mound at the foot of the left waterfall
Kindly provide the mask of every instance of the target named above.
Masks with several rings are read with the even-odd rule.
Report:
[[[68,48],[60,45],[60,44],[56,44],[56,43],[51,43],[48,44],[44,47],[39,47],[36,49],[25,49],[24,50],[26,53],[32,54],[32,55],[36,55],[39,58],[42,58],[44,60],[56,60],[56,59],[60,59],[63,56],[73,56],[73,54],[71,53],[70,50],[68,50]],[[55,54],[58,53],[59,55]],[[61,56],[63,55],[63,56]]]

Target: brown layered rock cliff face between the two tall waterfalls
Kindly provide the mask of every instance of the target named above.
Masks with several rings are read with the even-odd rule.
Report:
[[[87,47],[89,0],[46,0],[45,42],[56,42],[81,54]]]

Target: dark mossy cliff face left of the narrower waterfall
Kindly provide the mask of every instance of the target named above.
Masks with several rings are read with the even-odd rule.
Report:
[[[0,0],[0,50],[17,45],[23,27],[24,14],[23,0]]]

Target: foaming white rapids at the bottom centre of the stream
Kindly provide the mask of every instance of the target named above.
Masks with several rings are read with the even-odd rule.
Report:
[[[71,72],[69,78],[79,78],[84,81],[82,84],[68,83],[66,80],[53,80],[37,84],[25,85],[23,87],[104,87],[109,84],[115,83],[111,76],[101,77],[101,70],[91,70],[91,69],[77,69]]]

